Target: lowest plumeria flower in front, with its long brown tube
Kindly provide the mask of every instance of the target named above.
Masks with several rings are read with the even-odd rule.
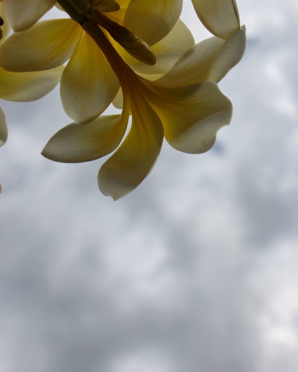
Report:
[[[189,48],[168,73],[154,81],[137,75],[98,25],[86,18],[82,27],[120,81],[123,110],[120,115],[99,116],[86,125],[72,123],[62,128],[42,151],[45,157],[76,163],[110,154],[124,136],[131,110],[129,134],[98,173],[101,192],[117,200],[149,174],[164,137],[186,153],[204,153],[212,147],[216,132],[229,124],[232,114],[231,102],[216,82],[241,60],[244,27],[239,25],[226,40],[212,37]]]

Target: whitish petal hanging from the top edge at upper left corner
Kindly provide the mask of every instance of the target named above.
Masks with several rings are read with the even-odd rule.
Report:
[[[4,1],[4,12],[13,31],[25,31],[36,23],[56,0],[9,0]]]

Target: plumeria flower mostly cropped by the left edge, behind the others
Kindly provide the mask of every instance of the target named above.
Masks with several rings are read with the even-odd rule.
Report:
[[[3,9],[3,2],[0,2],[0,14],[4,19],[1,27],[0,55],[3,53],[1,45],[10,32],[9,23]],[[63,66],[41,72],[10,72],[0,67],[0,98],[28,102],[37,100],[50,92],[60,81]],[[5,115],[0,107],[0,146],[7,140],[7,125]],[[0,186],[1,191],[1,186]]]

